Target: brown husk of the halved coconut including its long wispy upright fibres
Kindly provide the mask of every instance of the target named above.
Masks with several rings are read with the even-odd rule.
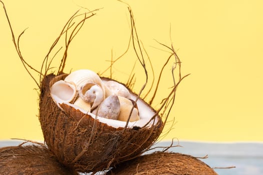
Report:
[[[144,57],[148,57],[148,54],[140,42],[140,39],[138,38],[130,7],[128,7],[128,9],[131,19],[131,35],[128,48],[120,57],[116,58],[115,60],[111,60],[111,65],[107,70],[110,69],[111,78],[113,63],[120,59],[128,51],[129,46],[132,45],[132,49],[135,51],[138,62],[143,67],[146,76],[146,82],[143,84],[141,90],[137,93],[139,98],[141,97],[141,93],[148,83],[148,71],[146,69],[146,61],[144,60]],[[135,158],[147,151],[161,134],[164,124],[166,123],[171,108],[174,104],[176,88],[181,80],[187,76],[181,76],[180,74],[181,63],[174,51],[173,46],[171,45],[171,47],[168,47],[165,45],[165,47],[170,50],[170,56],[161,69],[158,82],[156,83],[156,88],[152,97],[148,101],[149,108],[151,108],[151,104],[155,99],[159,82],[162,78],[162,71],[167,63],[171,60],[171,57],[175,58],[173,62],[174,66],[172,68],[174,84],[172,87],[170,87],[170,92],[168,95],[165,96],[163,100],[157,101],[160,107],[155,110],[156,114],[149,119],[149,122],[155,122],[156,124],[150,127],[145,124],[143,127],[128,128],[127,122],[125,127],[114,128],[107,124],[101,123],[99,120],[92,118],[88,114],[84,114],[80,110],[77,110],[66,104],[61,105],[63,109],[60,108],[51,97],[50,87],[55,81],[64,79],[67,75],[64,74],[64,67],[66,65],[69,44],[83,26],[84,22],[91,16],[95,15],[95,11],[96,10],[89,10],[85,13],[79,13],[77,11],[72,17],[70,17],[69,21],[66,23],[60,35],[52,44],[47,56],[43,60],[41,70],[38,71],[29,63],[27,63],[23,58],[19,47],[19,41],[24,32],[19,35],[16,41],[5,9],[17,52],[26,70],[40,88],[39,119],[41,122],[45,142],[61,163],[80,172],[96,172],[108,169],[111,166],[115,166],[120,162]],[[75,21],[80,17],[83,18],[80,21]],[[64,36],[65,38],[61,39],[61,37]],[[61,47],[57,51],[54,51],[55,46],[60,40],[63,40],[63,43],[65,43],[65,50],[63,57],[61,58],[61,64],[57,70],[57,73],[50,73],[52,69],[51,64],[54,58],[57,56],[57,53],[62,49]],[[142,49],[144,51],[142,51]],[[143,55],[145,53],[146,55]],[[150,62],[150,59],[148,60]],[[179,78],[175,82],[173,73],[176,65],[178,65],[177,67],[179,68]],[[39,81],[34,78],[30,70],[34,70],[38,74]],[[134,73],[131,73],[127,83],[125,83],[128,88],[130,87],[131,91],[135,83],[134,81]],[[141,97],[142,100],[146,99],[146,96],[150,94],[153,84],[154,80],[152,81],[150,89],[148,92],[146,92],[145,96]],[[138,100],[138,98],[136,100]],[[146,100],[144,101],[147,103]],[[136,101],[134,103],[134,107],[135,105]]]

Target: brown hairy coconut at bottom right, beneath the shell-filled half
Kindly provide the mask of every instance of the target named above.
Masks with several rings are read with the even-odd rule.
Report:
[[[124,162],[107,172],[107,175],[177,174],[215,175],[203,161],[187,154],[175,152],[154,152]]]

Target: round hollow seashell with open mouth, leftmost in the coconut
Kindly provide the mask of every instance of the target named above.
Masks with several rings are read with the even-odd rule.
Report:
[[[59,80],[51,86],[51,95],[58,103],[72,102],[77,97],[77,89],[74,83]]]

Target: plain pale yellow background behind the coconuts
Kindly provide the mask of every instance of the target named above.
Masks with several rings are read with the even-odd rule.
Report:
[[[127,7],[116,0],[4,0],[24,58],[37,69],[65,22],[80,8],[104,7],[87,20],[70,47],[67,70],[102,71],[126,48]],[[164,139],[263,141],[263,2],[261,0],[126,0],[157,72],[171,40],[191,73],[177,90]],[[0,5],[2,6],[2,5]],[[0,8],[0,139],[43,140],[38,91],[24,69]],[[122,64],[130,69],[131,64]],[[115,68],[114,75],[122,70]],[[129,73],[129,72],[128,72]],[[167,71],[166,75],[170,76]],[[38,76],[35,74],[38,78]],[[167,89],[162,89],[167,92]],[[166,94],[166,93],[165,93]],[[161,99],[162,94],[158,94]]]

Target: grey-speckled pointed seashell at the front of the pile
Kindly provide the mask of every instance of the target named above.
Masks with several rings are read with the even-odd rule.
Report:
[[[108,96],[92,113],[104,118],[117,119],[120,113],[120,101],[118,96]]]

